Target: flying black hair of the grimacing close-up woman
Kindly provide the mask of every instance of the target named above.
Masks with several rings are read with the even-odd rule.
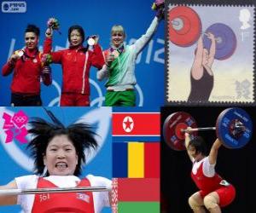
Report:
[[[52,112],[48,110],[46,110],[46,112],[52,119],[52,123],[45,121],[43,118],[32,118],[32,121],[29,122],[31,128],[28,130],[28,133],[32,134],[34,137],[32,141],[29,142],[27,148],[31,150],[32,158],[34,158],[35,173],[38,175],[44,174],[44,156],[49,141],[57,135],[67,135],[68,139],[72,141],[78,155],[78,164],[73,175],[81,175],[82,166],[86,163],[84,149],[96,149],[96,147],[98,147],[96,139],[94,138],[96,133],[89,124],[85,123],[70,124],[65,127],[55,118]],[[47,175],[49,175],[48,172]]]

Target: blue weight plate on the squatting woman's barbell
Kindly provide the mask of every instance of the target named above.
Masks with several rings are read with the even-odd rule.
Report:
[[[234,133],[234,123],[243,124],[241,131]],[[228,148],[241,148],[247,145],[253,135],[253,122],[241,108],[228,108],[221,112],[216,122],[216,132],[220,141]]]

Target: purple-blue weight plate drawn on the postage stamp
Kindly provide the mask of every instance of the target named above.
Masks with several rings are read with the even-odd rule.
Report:
[[[216,54],[214,56],[217,60],[225,60],[230,58],[236,50],[236,34],[230,28],[230,26],[222,23],[216,23],[207,28],[206,32],[212,32],[217,39],[216,41]],[[204,35],[203,37],[204,47],[210,50],[211,40]]]

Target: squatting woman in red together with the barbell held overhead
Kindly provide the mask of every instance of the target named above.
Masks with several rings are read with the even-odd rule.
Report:
[[[206,142],[197,136],[199,131],[216,130],[214,141],[207,156]],[[200,189],[189,197],[189,206],[194,212],[220,213],[236,197],[236,189],[215,171],[218,148],[244,147],[252,136],[253,124],[250,116],[241,108],[227,108],[218,116],[215,127],[197,127],[195,119],[187,112],[175,112],[166,118],[163,135],[174,150],[186,149],[193,163],[191,177]]]

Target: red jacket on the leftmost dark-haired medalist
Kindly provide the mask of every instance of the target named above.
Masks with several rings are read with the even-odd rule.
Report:
[[[49,52],[50,49],[44,49]],[[42,75],[41,53],[38,49],[32,51],[24,49],[25,54],[12,66],[7,62],[2,69],[3,76],[9,75],[14,70],[11,83],[11,91],[15,94],[40,95],[40,77]],[[45,79],[45,85],[49,85],[50,78]]]

